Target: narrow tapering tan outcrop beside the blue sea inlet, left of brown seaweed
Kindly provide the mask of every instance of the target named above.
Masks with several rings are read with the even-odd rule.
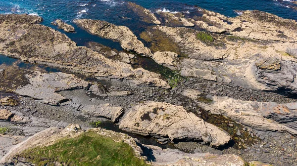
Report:
[[[74,20],[74,23],[93,35],[120,42],[125,50],[135,51],[142,55],[150,55],[150,50],[137,39],[128,27],[116,26],[106,21],[91,19],[78,19]]]

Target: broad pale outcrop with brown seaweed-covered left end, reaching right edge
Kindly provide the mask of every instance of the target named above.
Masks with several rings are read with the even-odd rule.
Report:
[[[165,26],[149,27],[141,37],[151,43],[153,52],[171,51],[183,57],[176,57],[174,64],[156,59],[167,67],[174,65],[182,76],[233,82],[259,90],[297,92],[297,59],[291,55],[295,53],[295,42],[255,41]]]

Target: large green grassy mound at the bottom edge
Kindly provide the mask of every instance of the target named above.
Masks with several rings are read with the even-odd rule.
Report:
[[[75,138],[62,139],[48,147],[27,149],[18,157],[36,166],[148,166],[135,157],[133,148],[124,142],[115,142],[93,131]]]

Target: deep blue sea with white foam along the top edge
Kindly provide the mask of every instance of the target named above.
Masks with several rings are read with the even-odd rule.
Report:
[[[187,15],[198,14],[197,8],[205,8],[229,17],[236,17],[241,10],[261,10],[283,18],[297,20],[297,5],[294,0],[130,0],[151,10],[151,12],[183,12]],[[42,24],[55,30],[50,23],[62,19],[76,28],[76,33],[66,35],[79,46],[87,42],[99,42],[121,50],[119,43],[88,34],[72,23],[73,19],[90,18],[105,20],[116,25],[129,27],[139,35],[148,26],[127,8],[126,0],[0,0],[0,14],[27,13],[43,17]],[[2,57],[0,56],[0,59]]]

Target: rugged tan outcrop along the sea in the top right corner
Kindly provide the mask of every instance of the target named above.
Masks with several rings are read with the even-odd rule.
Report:
[[[199,8],[201,17],[195,17],[195,24],[210,32],[228,32],[231,35],[265,41],[296,42],[297,23],[276,15],[247,10],[235,18]]]

